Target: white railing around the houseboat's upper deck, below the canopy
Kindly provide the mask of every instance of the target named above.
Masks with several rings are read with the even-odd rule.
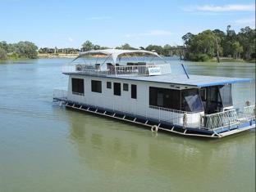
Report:
[[[154,70],[152,70],[154,69]],[[157,71],[157,72],[156,72]],[[170,74],[171,67],[169,64],[165,65],[123,65],[123,66],[107,66],[102,69],[98,65],[64,65],[62,73],[76,73],[76,74],[96,74],[96,75],[159,75]]]

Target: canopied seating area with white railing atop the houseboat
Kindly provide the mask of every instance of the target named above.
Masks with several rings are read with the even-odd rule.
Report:
[[[152,76],[170,74],[171,66],[152,51],[107,49],[81,52],[71,64],[63,66],[62,72],[100,76]]]

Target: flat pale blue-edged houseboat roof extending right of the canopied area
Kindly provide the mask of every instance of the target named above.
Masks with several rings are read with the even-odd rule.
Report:
[[[217,76],[203,76],[203,75],[190,75],[187,78],[184,74],[163,74],[156,76],[115,76],[111,75],[112,78],[129,79],[135,81],[145,81],[154,83],[172,83],[181,84],[194,87],[209,87],[216,85],[225,85],[231,83],[245,83],[251,82],[252,78],[228,78],[228,77],[217,77]],[[107,76],[107,77],[111,77]]]

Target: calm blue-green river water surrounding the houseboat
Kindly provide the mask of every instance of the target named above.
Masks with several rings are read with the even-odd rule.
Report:
[[[171,58],[173,71],[180,61]],[[255,130],[202,140],[80,113],[53,104],[70,59],[0,65],[0,192],[255,191]],[[254,64],[190,63],[190,74],[254,78]],[[234,102],[255,102],[253,83]]]

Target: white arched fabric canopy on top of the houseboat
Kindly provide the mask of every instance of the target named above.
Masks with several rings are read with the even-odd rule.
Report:
[[[103,50],[91,50],[91,51],[80,52],[80,55],[77,58],[79,58],[81,56],[89,56],[89,55],[106,55],[106,56],[111,56],[112,60],[114,61],[114,64],[116,64],[118,56],[120,56],[121,54],[131,54],[131,53],[145,53],[145,54],[149,54],[149,55],[153,55],[153,56],[158,56],[158,53],[153,52],[153,51],[103,49]],[[160,57],[160,56],[158,56],[158,57]],[[75,58],[75,59],[77,59],[77,58]]]

